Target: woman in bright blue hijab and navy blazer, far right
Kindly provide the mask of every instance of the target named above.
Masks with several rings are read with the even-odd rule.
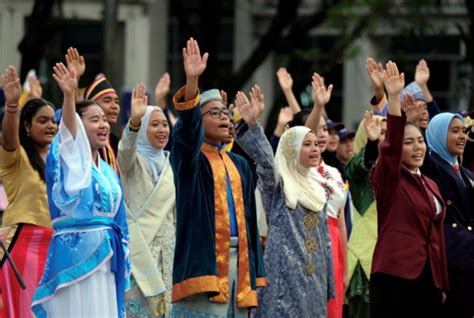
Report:
[[[438,185],[446,202],[444,220],[450,289],[446,304],[474,314],[474,189],[472,173],[460,166],[467,136],[463,117],[441,113],[426,130],[430,150],[423,173]]]

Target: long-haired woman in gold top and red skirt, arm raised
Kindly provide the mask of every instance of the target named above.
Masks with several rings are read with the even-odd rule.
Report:
[[[2,317],[32,317],[30,304],[43,274],[53,230],[45,184],[45,159],[57,132],[54,106],[43,99],[30,99],[19,106],[21,85],[9,66],[2,76],[5,115],[2,121],[0,178],[8,198],[3,213],[2,237],[19,269],[22,289],[11,264],[1,259]]]

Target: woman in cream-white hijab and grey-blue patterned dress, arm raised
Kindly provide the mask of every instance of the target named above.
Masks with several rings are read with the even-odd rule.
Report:
[[[326,317],[334,297],[331,239],[326,196],[311,177],[319,163],[316,135],[306,127],[288,129],[273,158],[257,123],[257,96],[242,92],[236,105],[248,125],[237,142],[257,162],[259,187],[268,222],[265,270],[268,285],[259,290],[255,317]]]

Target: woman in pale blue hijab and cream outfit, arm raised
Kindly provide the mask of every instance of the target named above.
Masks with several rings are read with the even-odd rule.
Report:
[[[130,231],[132,282],[127,317],[167,316],[175,244],[175,188],[170,129],[163,111],[147,106],[145,86],[132,94],[131,118],[118,148]]]

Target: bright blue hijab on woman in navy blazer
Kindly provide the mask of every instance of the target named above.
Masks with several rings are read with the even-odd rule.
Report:
[[[460,114],[441,113],[430,120],[428,128],[426,129],[426,140],[429,149],[451,165],[458,164],[457,156],[451,154],[446,145],[449,125],[454,118],[459,118],[461,121],[464,120]]]

